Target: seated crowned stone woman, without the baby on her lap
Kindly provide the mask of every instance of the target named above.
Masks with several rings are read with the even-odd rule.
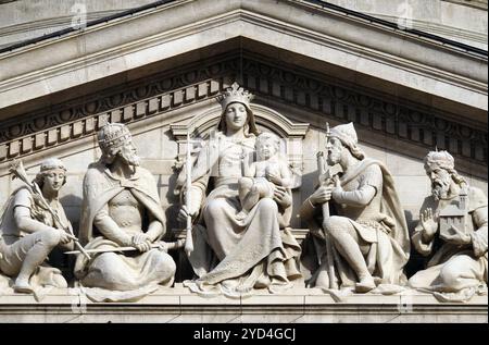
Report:
[[[185,284],[193,292],[239,295],[253,288],[277,292],[301,278],[297,267],[300,247],[287,229],[291,215],[290,189],[276,186],[273,198],[260,199],[244,218],[239,198],[242,157],[253,155],[258,135],[250,108],[252,95],[233,84],[221,96],[217,131],[199,152],[192,167],[189,207],[197,225],[189,261],[198,279]]]

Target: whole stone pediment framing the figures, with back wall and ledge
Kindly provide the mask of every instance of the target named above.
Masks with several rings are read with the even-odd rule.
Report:
[[[444,21],[453,4],[442,2]],[[467,13],[457,12],[457,20]],[[479,24],[449,36],[463,38]],[[465,38],[484,46],[478,35]],[[216,126],[215,97],[234,82],[256,96],[258,127],[287,138],[288,158],[300,172],[290,220],[299,243],[308,233],[299,209],[316,188],[326,121],[353,122],[359,147],[391,172],[410,233],[431,193],[423,163],[428,150],[452,152],[461,175],[488,194],[487,57],[305,1],[177,0],[0,54],[0,205],[21,185],[8,174],[11,159],[22,159],[34,178],[46,157],[59,157],[67,168],[60,200],[77,231],[83,178],[101,155],[96,133],[106,121],[120,122],[154,176],[168,239],[183,238],[175,187],[186,131],[206,134]],[[487,296],[466,304],[409,292],[335,299],[301,286],[273,296],[202,298],[179,283],[191,278],[186,258],[171,255],[178,283],[137,304],[93,303],[73,288],[7,293],[0,321],[487,322]],[[421,261],[413,250],[409,275]]]

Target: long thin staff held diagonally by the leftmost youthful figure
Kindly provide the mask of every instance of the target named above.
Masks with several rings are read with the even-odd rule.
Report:
[[[48,210],[49,213],[51,213],[53,220],[55,223],[58,223],[68,235],[68,237],[75,242],[75,246],[79,249],[79,251],[88,259],[90,260],[90,256],[88,252],[84,249],[84,247],[79,244],[78,238],[73,233],[73,227],[71,224],[65,225],[61,218],[59,217],[58,212],[55,212],[51,206],[49,206],[48,201],[46,201],[45,196],[42,195],[41,189],[37,185],[36,182],[29,182],[27,177],[27,173],[24,169],[24,164],[22,161],[13,160],[11,163],[11,167],[9,169],[10,173],[13,174],[13,178],[17,177],[21,180],[33,195],[36,195],[38,200],[40,201],[41,206]]]

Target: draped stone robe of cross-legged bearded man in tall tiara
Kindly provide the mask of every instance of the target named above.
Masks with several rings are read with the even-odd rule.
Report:
[[[152,174],[137,167],[130,178],[117,178],[99,162],[89,167],[84,180],[79,239],[86,245],[86,249],[121,247],[116,234],[109,237],[93,223],[108,202],[124,190],[129,192],[152,219],[162,223],[163,232],[156,239],[164,235],[165,215]],[[170,255],[159,249],[150,249],[146,252],[134,250],[92,255],[91,260],[78,255],[75,275],[84,286],[108,291],[136,291],[155,284],[171,285],[175,269],[175,262]]]

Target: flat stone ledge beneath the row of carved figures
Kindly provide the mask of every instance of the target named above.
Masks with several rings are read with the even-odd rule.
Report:
[[[80,305],[82,301],[82,305]],[[337,303],[319,289],[244,299],[203,298],[177,284],[161,287],[135,304],[99,304],[73,291],[51,291],[37,303],[33,296],[0,296],[0,322],[488,322],[487,296],[466,304],[439,304],[424,294],[354,295]]]

